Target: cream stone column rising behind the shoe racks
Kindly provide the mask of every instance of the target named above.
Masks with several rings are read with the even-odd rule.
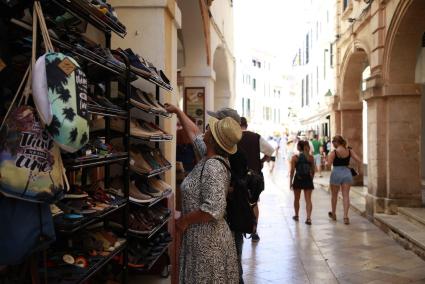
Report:
[[[162,69],[177,90],[177,29],[181,26],[181,13],[174,0],[112,0],[120,21],[127,27],[124,39],[113,36],[112,47],[131,48],[135,53]],[[143,79],[132,83],[147,92],[155,92],[155,86]],[[161,102],[177,104],[173,92],[161,90]],[[135,113],[135,116],[138,114]],[[168,133],[176,132],[176,118],[160,119],[161,127]],[[176,144],[161,145],[166,158],[175,164]],[[165,181],[175,185],[175,170],[168,171]]]

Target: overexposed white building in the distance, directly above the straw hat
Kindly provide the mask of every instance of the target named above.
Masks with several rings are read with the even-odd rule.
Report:
[[[270,53],[245,50],[238,53],[235,108],[249,128],[264,137],[279,135],[288,127],[288,80],[280,62]]]

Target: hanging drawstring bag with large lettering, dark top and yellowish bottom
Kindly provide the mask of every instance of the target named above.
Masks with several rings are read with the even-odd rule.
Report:
[[[0,126],[0,192],[26,201],[55,202],[68,182],[59,147],[40,123],[35,109],[26,105],[30,73],[28,68]],[[16,108],[15,101],[27,77],[24,96]]]

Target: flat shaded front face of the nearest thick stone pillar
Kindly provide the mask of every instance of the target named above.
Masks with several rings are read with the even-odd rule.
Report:
[[[422,198],[420,93],[409,93],[409,90],[403,93],[387,99],[387,210],[393,210],[393,206],[420,206]],[[391,94],[390,88],[388,94]]]

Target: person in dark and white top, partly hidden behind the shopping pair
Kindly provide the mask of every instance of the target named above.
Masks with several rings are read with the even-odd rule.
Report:
[[[273,147],[263,138],[260,134],[257,134],[252,131],[248,131],[248,122],[245,117],[241,117],[241,128],[242,128],[242,139],[238,143],[238,148],[241,152],[244,153],[247,161],[248,168],[254,171],[256,174],[263,175],[261,172],[263,168],[263,164],[265,161],[268,161],[272,156],[274,149]],[[260,154],[263,153],[264,157],[260,158]],[[257,200],[258,202],[259,200]],[[260,212],[258,209],[258,204],[254,203],[254,213],[257,219],[260,216]],[[253,242],[258,242],[260,240],[260,236],[258,232],[255,232],[251,235]]]

